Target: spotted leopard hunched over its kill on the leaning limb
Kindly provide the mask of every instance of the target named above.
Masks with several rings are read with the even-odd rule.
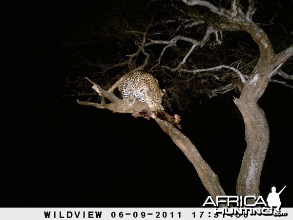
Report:
[[[134,102],[145,102],[152,111],[164,110],[162,106],[163,91],[158,80],[149,72],[138,70],[131,73],[119,86],[118,90],[130,107]]]

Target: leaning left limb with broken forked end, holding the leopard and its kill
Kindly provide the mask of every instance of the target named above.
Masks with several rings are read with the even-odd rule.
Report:
[[[174,141],[174,143],[181,149],[181,151],[188,157],[188,160],[195,167],[198,176],[200,177],[203,185],[208,190],[209,194],[213,199],[216,199],[216,196],[225,196],[225,192],[219,183],[218,176],[211,170],[206,161],[199,154],[195,146],[191,141],[173,125],[178,126],[180,117],[178,115],[171,116],[167,112],[158,110],[150,111],[147,109],[147,104],[143,102],[136,101],[133,106],[130,107],[125,100],[119,99],[113,92],[109,92],[101,88],[95,82],[86,78],[93,84],[93,89],[103,98],[105,97],[111,103],[106,104],[105,101],[102,103],[93,103],[93,102],[84,102],[77,100],[80,105],[93,106],[98,109],[108,109],[113,112],[120,113],[131,113],[133,116],[142,116],[145,118],[153,118],[159,124],[164,132],[166,132]],[[104,99],[104,98],[103,98]]]

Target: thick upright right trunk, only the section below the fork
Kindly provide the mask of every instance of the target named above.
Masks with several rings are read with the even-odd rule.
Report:
[[[260,58],[239,99],[234,102],[245,123],[247,148],[237,179],[238,196],[259,196],[260,175],[270,142],[270,130],[264,111],[257,101],[265,91],[274,66]]]

